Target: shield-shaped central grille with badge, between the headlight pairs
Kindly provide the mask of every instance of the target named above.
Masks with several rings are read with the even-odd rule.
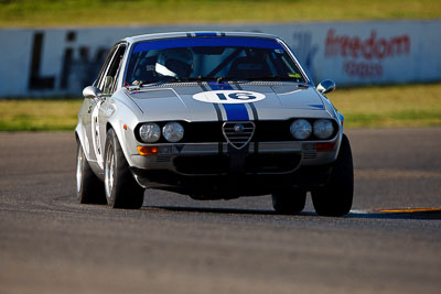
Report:
[[[251,140],[255,133],[255,124],[251,121],[225,122],[222,126],[227,142],[235,149],[243,149]]]

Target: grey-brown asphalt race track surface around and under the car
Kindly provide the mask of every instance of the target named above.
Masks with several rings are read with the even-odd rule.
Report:
[[[270,197],[79,205],[73,133],[0,133],[0,293],[440,293],[441,128],[351,130],[344,218]]]

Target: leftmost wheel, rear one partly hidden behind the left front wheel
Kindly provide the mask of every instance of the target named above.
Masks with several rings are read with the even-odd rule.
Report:
[[[106,204],[104,184],[92,171],[79,140],[76,155],[76,195],[80,204]]]

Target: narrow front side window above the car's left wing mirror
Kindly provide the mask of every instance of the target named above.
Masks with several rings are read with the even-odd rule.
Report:
[[[111,94],[117,86],[118,73],[121,68],[122,57],[126,52],[126,45],[120,44],[112,51],[111,59],[107,64],[106,69],[101,73],[98,81],[98,88],[104,94]]]

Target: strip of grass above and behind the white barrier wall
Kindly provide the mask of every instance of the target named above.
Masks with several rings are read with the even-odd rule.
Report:
[[[439,0],[0,0],[3,28],[439,18]]]

